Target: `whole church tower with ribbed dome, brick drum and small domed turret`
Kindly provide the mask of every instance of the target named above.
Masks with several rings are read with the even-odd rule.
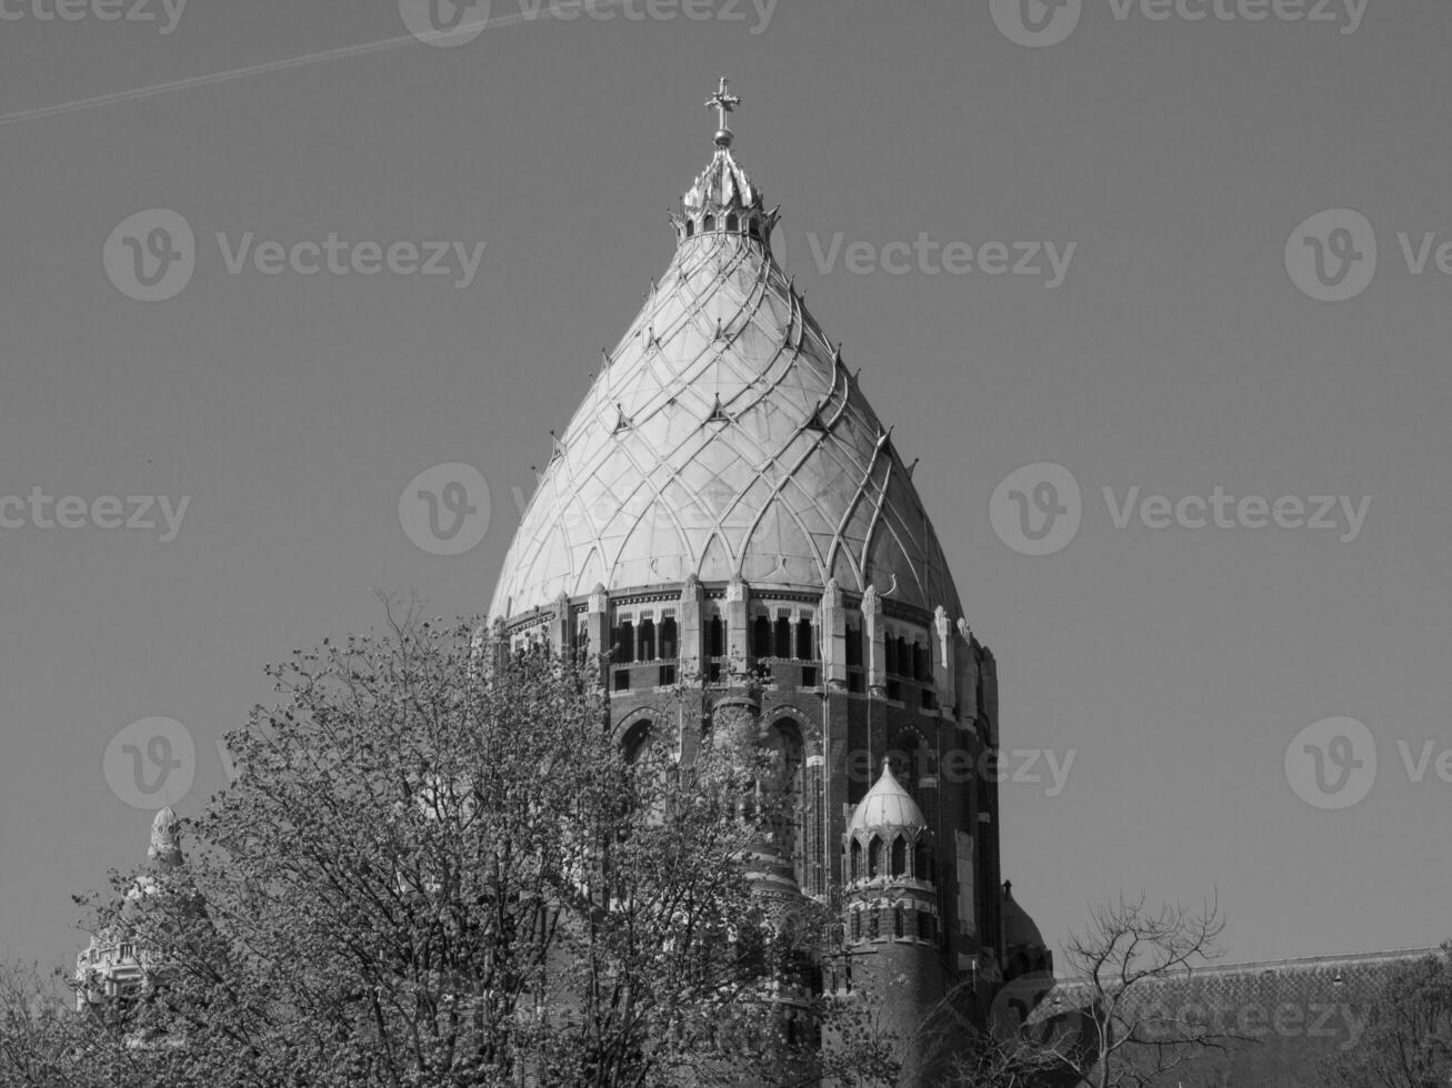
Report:
[[[555,438],[489,615],[517,650],[608,650],[627,750],[772,750],[796,812],[774,891],[845,897],[842,970],[902,1034],[950,995],[983,1023],[1022,959],[983,773],[993,653],[892,429],[772,255],[738,102],[723,80],[707,103],[714,151],[672,215],[674,258]]]

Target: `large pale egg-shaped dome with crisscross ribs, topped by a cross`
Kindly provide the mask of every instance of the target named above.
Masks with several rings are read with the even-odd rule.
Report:
[[[960,612],[890,432],[771,254],[767,210],[732,154],[722,90],[710,164],[681,202],[677,251],[555,441],[489,614],[741,579]]]

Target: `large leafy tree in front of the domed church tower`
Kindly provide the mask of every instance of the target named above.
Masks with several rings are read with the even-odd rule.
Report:
[[[598,662],[475,630],[391,619],[270,669],[187,865],[97,908],[155,956],[123,1031],[83,1018],[97,1084],[857,1079],[873,1043],[812,985],[829,905],[752,889],[767,753],[627,757]],[[826,1021],[861,1043],[835,1069]]]

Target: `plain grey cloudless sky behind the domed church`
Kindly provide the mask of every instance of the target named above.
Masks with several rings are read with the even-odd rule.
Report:
[[[103,20],[105,0],[41,17],[54,3],[0,3],[0,502],[17,499],[0,506],[0,955],[73,956],[70,894],[142,857],[128,724],[184,727],[184,815],[225,780],[216,738],[270,698],[266,662],[376,624],[375,588],[440,615],[488,606],[514,489],[671,257],[665,212],[709,160],[719,74],[745,99],[736,151],[783,205],[788,268],[922,457],[999,659],[1003,747],[1072,754],[1060,791],[1003,786],[1003,873],[1045,934],[1121,889],[1218,889],[1233,960],[1452,937],[1446,4],[1334,0],[1321,22],[1288,0],[1263,20],[1253,0],[1089,0],[1040,48],[998,0],[637,0],[643,17],[610,22],[494,0],[454,48],[408,39],[29,116],[407,33],[396,0],[193,0],[170,33],[160,0],[152,22]],[[1043,44],[1074,9],[1029,15]],[[195,232],[195,274],[166,302],[107,274],[125,279],[128,238],[142,257],[176,241],[150,222],[107,247],[144,209]],[[1365,226],[1294,234],[1324,209]],[[457,250],[457,276],[234,274],[248,232],[485,248],[463,287]],[[945,271],[950,242],[989,267],[986,242],[1011,264],[1074,248],[1050,287]],[[870,245],[849,263],[854,244]],[[1317,245],[1327,290],[1346,270],[1365,290],[1310,297]],[[465,554],[399,521],[405,485],[440,463],[491,489]],[[1077,535],[1044,556],[990,516],[1028,500],[993,495],[1035,463],[1082,489]],[[36,514],[36,487],[86,503]],[[1169,528],[1137,505],[1118,528],[1105,487],[1115,508],[1166,496],[1143,514]],[[1215,487],[1371,506],[1355,534],[1346,514],[1256,528],[1253,502],[1192,528]],[[78,528],[44,527],[62,512]],[[103,528],[118,516],[157,528]],[[1378,756],[1334,811],[1286,766],[1333,715]],[[1310,735],[1327,782],[1365,775],[1356,737]]]

